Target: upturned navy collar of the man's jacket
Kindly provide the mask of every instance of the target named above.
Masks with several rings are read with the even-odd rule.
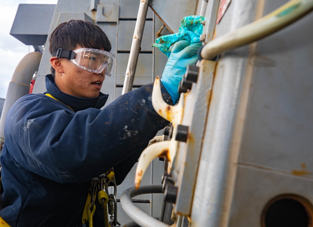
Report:
[[[108,96],[100,92],[99,96],[96,98],[80,98],[66,94],[56,86],[54,83],[54,78],[51,74],[46,76],[46,89],[50,95],[52,95],[57,100],[63,102],[64,104],[70,106],[75,112],[80,110],[85,110],[90,107],[100,109],[105,105],[105,102],[108,100]]]

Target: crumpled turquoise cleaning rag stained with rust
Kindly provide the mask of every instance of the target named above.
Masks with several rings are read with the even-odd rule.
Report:
[[[180,40],[188,40],[191,43],[200,42],[203,30],[202,21],[204,21],[203,16],[184,17],[177,33],[157,38],[152,47],[159,48],[167,57],[170,57],[171,47],[175,42]]]

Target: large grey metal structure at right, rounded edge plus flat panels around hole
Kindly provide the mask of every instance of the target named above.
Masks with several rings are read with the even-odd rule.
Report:
[[[262,3],[266,15],[286,2],[232,1],[214,34],[253,22]],[[285,193],[312,203],[312,20],[309,14],[222,54],[193,197],[194,226],[261,226],[266,203]]]

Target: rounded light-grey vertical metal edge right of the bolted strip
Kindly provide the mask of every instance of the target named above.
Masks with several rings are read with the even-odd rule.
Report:
[[[255,3],[256,1],[232,1],[223,20],[215,28],[216,36],[235,30],[249,23],[249,20],[253,21]],[[239,14],[242,15],[242,20],[239,20]],[[229,149],[233,138],[233,127],[247,56],[248,47],[233,50],[223,55],[216,67],[192,200],[190,216],[192,226],[198,227],[203,223],[206,223],[208,227],[227,226],[229,204],[227,206],[224,204],[225,193],[227,190],[233,190],[232,185],[230,188],[227,185],[230,165]],[[225,219],[222,220],[222,218]]]

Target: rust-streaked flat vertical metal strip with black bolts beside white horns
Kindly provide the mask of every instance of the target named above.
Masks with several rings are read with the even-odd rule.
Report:
[[[188,139],[186,143],[179,143],[177,156],[180,158],[175,162],[175,169],[179,172],[175,183],[178,186],[175,212],[184,216],[189,216],[191,211],[215,65],[216,62],[206,60],[198,64],[200,69],[197,83],[192,84],[184,102],[182,125],[189,126]]]

